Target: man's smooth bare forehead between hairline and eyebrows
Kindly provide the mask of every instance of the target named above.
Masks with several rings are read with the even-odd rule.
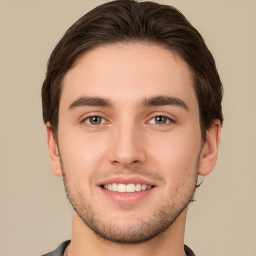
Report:
[[[107,45],[85,53],[66,73],[60,108],[67,109],[80,96],[134,105],[155,95],[178,97],[197,107],[192,74],[182,58],[156,45]]]

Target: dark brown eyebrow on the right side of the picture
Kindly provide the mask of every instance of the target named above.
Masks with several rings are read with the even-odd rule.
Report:
[[[163,106],[163,105],[179,106],[184,108],[186,111],[188,111],[188,106],[183,100],[176,97],[168,97],[168,96],[162,96],[162,95],[145,98],[138,104],[139,107]]]

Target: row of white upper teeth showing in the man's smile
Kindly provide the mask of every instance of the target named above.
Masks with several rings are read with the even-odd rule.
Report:
[[[140,183],[130,183],[130,184],[122,184],[122,183],[110,183],[110,184],[105,184],[103,187],[107,190],[111,191],[118,191],[122,193],[132,193],[132,192],[138,192],[141,190],[146,190],[151,188],[151,185],[146,185],[146,184],[140,184]]]

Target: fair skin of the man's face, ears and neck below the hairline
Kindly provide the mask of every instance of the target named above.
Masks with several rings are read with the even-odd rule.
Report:
[[[177,54],[90,50],[64,77],[58,143],[50,123],[46,131],[51,170],[75,209],[68,256],[185,255],[187,204],[197,174],[215,165],[220,123],[202,143],[191,72]]]

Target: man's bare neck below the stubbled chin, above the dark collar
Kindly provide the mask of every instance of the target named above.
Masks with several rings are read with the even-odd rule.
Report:
[[[169,228],[154,238],[138,244],[120,244],[105,240],[87,227],[73,211],[72,237],[68,256],[184,256],[184,230],[187,207]]]

